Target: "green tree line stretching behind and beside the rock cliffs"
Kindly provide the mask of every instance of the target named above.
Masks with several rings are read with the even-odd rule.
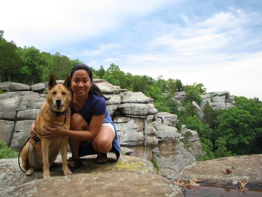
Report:
[[[50,54],[40,52],[35,47],[17,47],[7,42],[0,31],[0,82],[12,81],[28,85],[47,82],[54,73],[57,80],[63,80],[71,68],[82,63],[70,60],[59,52]],[[118,65],[111,64],[106,70],[91,68],[94,78],[102,78],[108,83],[133,92],[143,92],[154,99],[159,112],[178,115],[176,127],[181,131],[183,124],[199,134],[206,155],[198,160],[210,160],[217,157],[262,153],[262,103],[256,97],[247,99],[235,96],[236,105],[227,110],[213,110],[207,103],[204,108],[204,120],[200,121],[192,101],[200,104],[201,94],[206,92],[203,84],[184,85],[179,79],[156,80],[147,75],[124,73]],[[173,99],[176,92],[185,91],[186,99],[180,104]],[[212,95],[212,94],[211,94]]]

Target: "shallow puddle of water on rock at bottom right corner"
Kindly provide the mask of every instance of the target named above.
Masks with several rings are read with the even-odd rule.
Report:
[[[235,188],[200,186],[199,189],[186,189],[185,197],[261,197],[262,189],[249,189],[248,191],[238,191]]]

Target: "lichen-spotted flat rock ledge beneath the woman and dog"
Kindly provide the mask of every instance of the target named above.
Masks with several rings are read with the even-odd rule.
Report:
[[[115,155],[114,155],[115,156]],[[152,163],[121,155],[98,165],[94,156],[83,157],[83,166],[73,175],[62,176],[61,167],[52,168],[51,179],[42,172],[27,176],[17,159],[0,160],[1,196],[184,196],[184,189],[158,175]],[[60,156],[57,159],[61,162]]]

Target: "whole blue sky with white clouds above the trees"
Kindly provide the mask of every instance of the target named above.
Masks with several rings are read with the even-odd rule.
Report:
[[[96,70],[115,64],[262,101],[260,0],[4,0],[0,30]]]

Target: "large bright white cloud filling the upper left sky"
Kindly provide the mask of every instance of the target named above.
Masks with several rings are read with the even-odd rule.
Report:
[[[40,49],[73,44],[118,30],[121,24],[143,17],[170,1],[5,1],[1,3],[1,28],[18,46]]]

